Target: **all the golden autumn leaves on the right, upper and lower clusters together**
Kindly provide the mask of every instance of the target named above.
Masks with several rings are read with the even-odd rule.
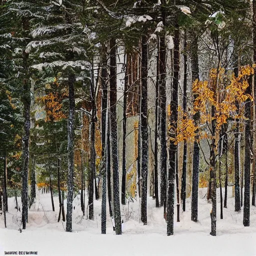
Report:
[[[194,94],[193,108],[190,112],[183,112],[178,107],[178,123],[175,143],[194,139],[198,126],[210,125],[211,120],[215,120],[215,128],[218,130],[227,120],[234,118],[244,118],[244,102],[251,95],[246,93],[249,86],[248,79],[254,74],[255,64],[241,66],[237,77],[232,73],[228,75],[224,68],[212,68],[209,72],[208,81],[196,79],[192,84]],[[211,107],[214,107],[214,115],[211,114]],[[199,113],[199,120],[195,124],[192,116]],[[168,111],[168,114],[170,112]],[[199,138],[207,137],[207,133],[199,131]],[[172,139],[172,138],[170,138]]]

